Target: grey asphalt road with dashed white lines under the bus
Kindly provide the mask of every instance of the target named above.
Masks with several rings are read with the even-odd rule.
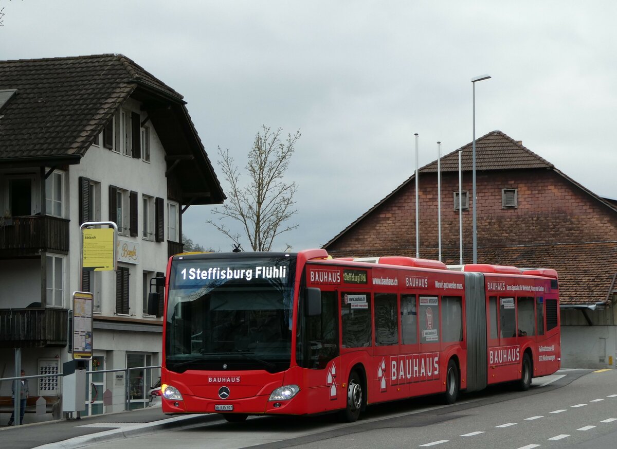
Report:
[[[615,449],[615,441],[617,371],[565,370],[534,379],[524,393],[499,387],[463,394],[450,406],[439,405],[436,398],[372,406],[352,424],[339,424],[328,415],[259,417],[237,424],[212,419],[83,447]]]

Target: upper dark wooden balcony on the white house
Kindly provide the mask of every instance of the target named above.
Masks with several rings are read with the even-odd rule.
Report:
[[[49,215],[15,216],[0,223],[0,257],[68,252],[69,220]]]

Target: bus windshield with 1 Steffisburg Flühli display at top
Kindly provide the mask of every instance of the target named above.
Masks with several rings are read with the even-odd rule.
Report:
[[[289,254],[212,253],[173,260],[167,368],[288,369],[294,271]]]

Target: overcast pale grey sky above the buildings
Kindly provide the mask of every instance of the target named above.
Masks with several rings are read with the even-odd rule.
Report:
[[[0,0],[0,58],[122,53],[183,94],[215,170],[244,165],[265,124],[302,132],[288,179],[300,226],[275,242],[320,247],[420,165],[503,131],[617,198],[615,1]],[[223,188],[228,191],[223,182]],[[190,207],[184,234],[231,244]],[[246,243],[244,249],[249,249]]]

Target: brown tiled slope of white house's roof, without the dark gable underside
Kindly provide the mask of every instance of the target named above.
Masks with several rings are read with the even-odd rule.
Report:
[[[183,102],[121,54],[0,61],[0,89],[17,89],[0,112],[0,162],[83,156],[138,86]]]

